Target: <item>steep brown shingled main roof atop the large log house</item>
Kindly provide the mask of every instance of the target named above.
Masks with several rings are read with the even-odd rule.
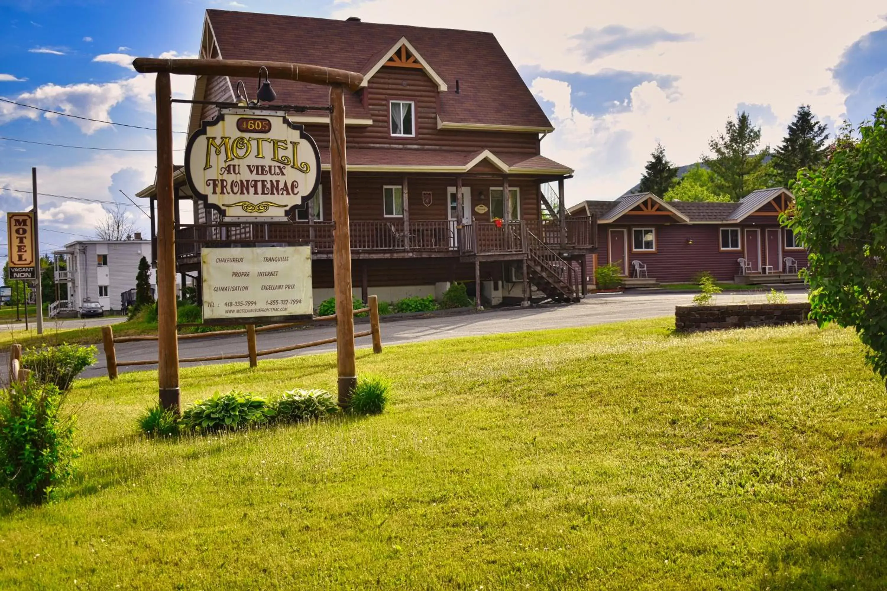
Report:
[[[208,10],[222,58],[299,62],[367,72],[405,37],[448,86],[440,94],[444,123],[552,128],[530,89],[491,33],[349,20]],[[455,93],[459,79],[459,94]],[[252,92],[255,81],[245,81]],[[275,81],[281,103],[326,105],[329,90]],[[369,117],[359,95],[346,97],[350,117]]]

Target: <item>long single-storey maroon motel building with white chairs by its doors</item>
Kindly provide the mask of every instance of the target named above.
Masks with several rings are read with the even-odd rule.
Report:
[[[626,284],[689,282],[703,271],[719,281],[800,282],[807,253],[779,215],[794,196],[780,188],[754,191],[739,203],[663,201],[653,193],[616,201],[584,201],[571,215],[597,215],[600,249],[586,273],[616,263]],[[635,262],[637,261],[637,262]]]

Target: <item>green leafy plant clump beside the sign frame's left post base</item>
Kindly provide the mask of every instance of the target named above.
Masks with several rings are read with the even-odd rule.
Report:
[[[215,393],[207,400],[197,400],[182,413],[182,426],[195,431],[215,432],[239,429],[251,423],[264,423],[273,410],[263,398],[232,390]]]

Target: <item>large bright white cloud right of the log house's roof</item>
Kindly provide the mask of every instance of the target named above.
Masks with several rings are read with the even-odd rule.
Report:
[[[725,18],[723,11],[701,10],[694,0],[548,0],[545,11],[530,0],[451,0],[446,11],[428,11],[413,0],[366,0],[334,6],[333,17],[491,31],[515,66],[543,73],[611,69],[677,77],[668,90],[644,82],[616,111],[597,116],[569,100],[571,91],[583,89],[554,80],[554,74],[530,81],[536,96],[554,105],[556,130],[542,142],[542,152],[576,168],[567,185],[568,202],[576,203],[616,198],[632,187],[656,141],[675,163],[694,162],[741,103],[769,106],[775,121],[767,120],[762,139],[771,146],[781,140],[798,105],[809,103],[820,119],[840,121],[846,93],[831,68],[851,43],[883,27],[878,16],[883,2],[847,0],[842,7],[836,11],[831,0],[747,0]],[[587,29],[629,37],[677,32],[692,35],[687,36],[692,41],[651,44],[645,42],[649,35],[640,35],[622,43],[620,37],[590,59],[581,36]]]

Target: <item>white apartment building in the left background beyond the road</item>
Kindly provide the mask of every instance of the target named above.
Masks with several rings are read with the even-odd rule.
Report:
[[[151,261],[151,241],[77,240],[52,253],[56,284],[67,285],[67,299],[50,306],[50,316],[75,314],[84,301],[98,301],[105,311],[122,308],[121,293],[136,287],[138,261]],[[64,257],[65,269],[59,269]],[[151,284],[155,284],[151,271]]]

